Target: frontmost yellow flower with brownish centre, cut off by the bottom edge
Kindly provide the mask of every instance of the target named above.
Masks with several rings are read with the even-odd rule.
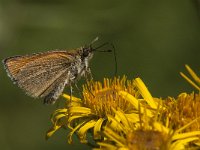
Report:
[[[126,118],[125,114],[121,114],[121,116],[123,115],[123,118]],[[139,123],[132,124],[127,119],[122,119],[118,122],[115,118],[110,116],[110,124],[115,122],[121,130],[116,130],[116,128],[109,125],[105,126],[103,130],[104,140],[98,142],[100,146],[98,149],[181,150],[189,148],[190,142],[199,139],[200,131],[179,133],[190,126],[194,121],[179,130],[173,131],[157,120],[154,120],[155,118],[149,118],[147,115],[143,115],[143,117],[140,118]],[[137,124],[139,124],[139,126]],[[190,146],[190,148],[192,147]]]

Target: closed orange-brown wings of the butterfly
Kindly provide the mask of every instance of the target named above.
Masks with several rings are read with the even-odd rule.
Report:
[[[63,91],[68,83],[68,72],[73,61],[73,53],[52,51],[10,57],[4,60],[4,65],[14,83],[28,95],[46,97],[54,91],[55,97],[56,90]]]

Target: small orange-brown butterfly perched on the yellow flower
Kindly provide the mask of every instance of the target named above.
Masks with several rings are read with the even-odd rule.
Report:
[[[97,48],[92,44],[75,50],[56,50],[3,60],[8,76],[34,98],[44,98],[44,103],[53,104],[62,94],[65,85],[71,86],[82,76],[90,75],[89,61]],[[107,50],[110,52],[111,50]]]

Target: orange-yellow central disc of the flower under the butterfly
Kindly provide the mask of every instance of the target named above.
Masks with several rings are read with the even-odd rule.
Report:
[[[125,113],[133,111],[132,105],[120,95],[120,91],[126,91],[135,98],[140,96],[135,83],[127,80],[125,76],[114,79],[105,78],[103,84],[91,81],[83,86],[83,105],[99,117],[113,115],[112,109],[120,108]]]

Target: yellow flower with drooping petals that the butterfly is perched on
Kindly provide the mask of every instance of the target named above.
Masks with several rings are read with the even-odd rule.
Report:
[[[76,133],[80,142],[87,143],[87,133],[93,133],[93,139],[101,139],[102,127],[106,125],[110,116],[120,121],[120,114],[125,113],[128,122],[138,122],[138,111],[152,117],[158,102],[151,96],[140,78],[127,80],[126,77],[105,78],[100,82],[88,82],[83,86],[83,98],[64,95],[67,105],[56,110],[52,115],[53,127],[47,132],[47,138],[60,127],[68,127],[71,132],[68,142],[72,142],[72,135]],[[70,104],[72,101],[73,104]],[[139,107],[140,106],[140,107]],[[139,110],[140,109],[140,110]],[[112,124],[112,126],[117,126]]]

